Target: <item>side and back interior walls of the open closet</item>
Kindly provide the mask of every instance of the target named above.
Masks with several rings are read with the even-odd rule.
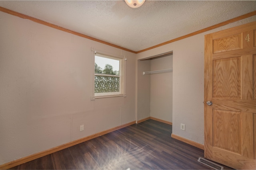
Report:
[[[172,54],[138,60],[137,120],[154,117],[172,122],[172,72],[143,75],[145,71],[169,68]]]

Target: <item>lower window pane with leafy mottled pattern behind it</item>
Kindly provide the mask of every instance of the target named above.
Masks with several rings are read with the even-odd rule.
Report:
[[[95,93],[109,93],[119,92],[119,77],[109,76],[94,76],[94,92]]]

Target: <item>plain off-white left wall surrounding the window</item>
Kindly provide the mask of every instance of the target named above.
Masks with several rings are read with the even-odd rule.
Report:
[[[91,47],[126,55],[126,98],[90,100]],[[0,164],[134,121],[135,66],[133,53],[0,12]]]

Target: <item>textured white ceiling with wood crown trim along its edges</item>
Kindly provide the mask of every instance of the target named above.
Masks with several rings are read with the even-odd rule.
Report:
[[[256,10],[256,1],[2,1],[0,6],[140,51]]]

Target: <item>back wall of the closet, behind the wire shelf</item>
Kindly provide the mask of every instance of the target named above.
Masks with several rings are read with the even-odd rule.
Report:
[[[151,60],[151,71],[172,68],[172,55]],[[150,116],[172,122],[172,72],[150,74]]]

